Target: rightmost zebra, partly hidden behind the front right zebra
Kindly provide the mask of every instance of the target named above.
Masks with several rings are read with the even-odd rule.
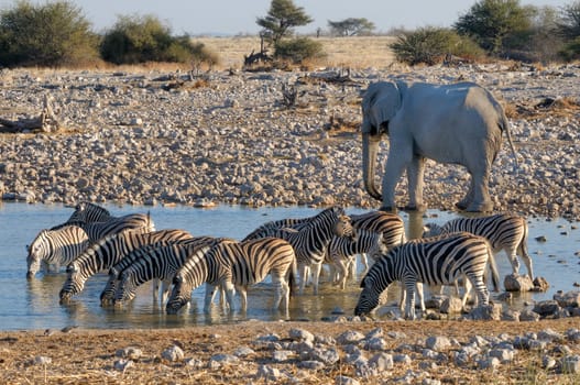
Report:
[[[423,237],[433,237],[444,233],[467,231],[475,235],[485,238],[497,254],[505,251],[512,272],[519,274],[519,261],[517,255],[524,261],[529,278],[534,280],[532,257],[527,252],[528,227],[526,220],[518,216],[499,213],[479,218],[458,218],[446,222],[444,226],[427,223]]]

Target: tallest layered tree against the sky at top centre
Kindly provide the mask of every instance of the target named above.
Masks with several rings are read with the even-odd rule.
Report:
[[[263,28],[262,35],[276,45],[281,38],[294,34],[295,26],[311,23],[313,19],[292,0],[272,0],[267,15],[258,18],[255,22]]]

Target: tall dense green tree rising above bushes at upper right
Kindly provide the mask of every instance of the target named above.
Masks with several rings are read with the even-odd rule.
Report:
[[[521,46],[532,33],[534,7],[521,7],[519,0],[482,0],[453,25],[461,35],[472,37],[485,51],[501,54]]]

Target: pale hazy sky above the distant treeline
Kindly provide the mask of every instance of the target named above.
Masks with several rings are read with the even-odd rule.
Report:
[[[271,0],[68,0],[81,9],[96,32],[110,29],[118,15],[153,14],[165,22],[172,34],[237,35],[260,32],[255,23],[270,10]],[[31,0],[44,4],[47,0]],[[328,30],[328,21],[365,18],[375,32],[405,28],[451,26],[475,0],[294,0],[314,22],[296,30],[314,33]],[[521,0],[521,6],[550,6],[557,9],[573,0]],[[0,0],[0,10],[13,7],[14,0]]]

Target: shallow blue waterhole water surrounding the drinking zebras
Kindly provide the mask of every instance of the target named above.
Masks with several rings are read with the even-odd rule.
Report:
[[[282,218],[314,216],[320,209],[291,208],[247,208],[219,206],[211,209],[191,207],[118,207],[105,205],[114,216],[130,212],[151,211],[156,229],[184,229],[194,235],[230,237],[242,239],[263,222]],[[278,320],[282,315],[271,310],[273,293],[269,280],[250,288],[248,311],[236,311],[223,316],[218,310],[206,315],[203,311],[204,287],[194,292],[189,308],[176,316],[167,316],[164,308],[153,302],[151,285],[143,285],[133,304],[127,309],[116,310],[100,307],[99,295],[107,277],[99,274],[91,277],[85,290],[75,296],[69,305],[58,304],[58,292],[66,279],[66,273],[36,274],[28,280],[25,245],[30,244],[41,229],[51,228],[68,219],[73,209],[62,205],[0,204],[0,330],[30,330],[78,326],[81,328],[174,328],[208,323],[236,322],[245,319]],[[364,210],[347,209],[348,213]],[[419,234],[424,222],[442,223],[457,213],[429,211],[429,219],[402,212],[406,223],[407,237]],[[578,223],[565,220],[547,221],[530,219],[528,249],[534,260],[534,272],[550,284],[547,293],[526,293],[516,295],[512,307],[522,308],[526,301],[551,299],[557,290],[574,290],[580,282],[580,230]],[[538,242],[544,235],[547,242]],[[511,273],[507,258],[502,253],[497,257],[502,276]],[[525,273],[525,266],[521,266]],[[359,265],[359,279],[362,266]],[[349,283],[340,290],[329,283],[322,283],[320,294],[314,296],[307,288],[303,296],[291,299],[289,318],[294,320],[320,320],[335,314],[352,315],[359,295],[358,282]],[[494,295],[494,294],[492,294]],[[390,287],[387,304],[396,311],[398,289]]]

